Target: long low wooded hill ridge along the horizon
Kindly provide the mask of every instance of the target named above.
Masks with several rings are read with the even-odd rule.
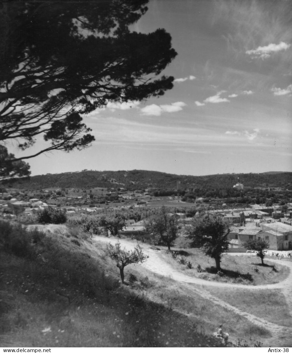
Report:
[[[234,184],[243,183],[251,187],[284,187],[292,189],[291,172],[268,172],[249,174],[215,174],[195,177],[192,175],[176,175],[148,170],[119,170],[98,172],[83,170],[82,172],[36,175],[30,179],[6,181],[4,186],[19,189],[47,189],[50,187],[74,187],[91,189],[94,187],[113,187],[128,190],[138,189],[226,189]]]

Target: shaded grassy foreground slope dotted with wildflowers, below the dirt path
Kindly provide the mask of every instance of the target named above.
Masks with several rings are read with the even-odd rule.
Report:
[[[212,332],[222,322],[233,342],[271,337],[140,266],[127,266],[121,285],[106,246],[77,229],[31,229],[1,221],[1,346],[220,347]]]

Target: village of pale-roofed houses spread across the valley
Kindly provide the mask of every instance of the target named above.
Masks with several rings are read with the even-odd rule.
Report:
[[[243,185],[234,185],[234,188],[238,187],[243,188]],[[105,192],[106,195],[109,196],[117,195],[116,192]],[[180,208],[182,212],[174,211],[172,215],[177,218],[179,223],[185,226],[192,223],[193,217],[199,216],[199,211],[197,211],[193,212],[193,217],[189,217],[187,210],[190,207],[194,207],[194,205],[198,210],[202,210],[204,205],[203,198],[197,198],[195,204],[189,204],[181,201],[179,197],[151,197],[148,190],[141,193],[127,192],[119,189],[119,192],[118,200],[114,200],[115,202],[112,203],[106,202],[104,205],[98,205],[98,207],[92,206],[92,203],[89,203],[90,199],[92,199],[91,192],[67,196],[65,196],[64,192],[63,196],[60,192],[57,192],[59,196],[56,198],[53,192],[45,190],[43,195],[50,194],[53,195],[54,198],[54,200],[46,200],[47,202],[38,198],[23,201],[21,200],[23,194],[19,192],[15,192],[15,194],[18,195],[16,197],[13,197],[13,195],[9,193],[2,193],[3,199],[0,200],[0,212],[2,217],[13,219],[17,217],[18,214],[29,216],[48,207],[61,207],[66,211],[68,217],[74,215],[98,216],[103,213],[105,208],[119,212],[127,209],[141,210],[166,205],[170,209],[170,212],[172,212],[173,209],[176,210],[178,207]],[[54,202],[50,203],[50,201]],[[70,205],[74,204],[74,201],[79,202],[81,206]],[[287,203],[284,208],[276,204],[268,207],[264,204],[252,204],[250,206],[250,208],[242,207],[232,209],[227,208],[226,204],[223,204],[222,209],[208,209],[210,214],[219,215],[224,220],[228,220],[230,224],[228,251],[245,252],[246,249],[243,244],[248,240],[263,239],[270,244],[268,250],[268,252],[271,253],[270,255],[274,255],[275,251],[280,251],[280,254],[282,252],[283,256],[287,256],[289,251],[292,250],[292,203]],[[119,231],[121,237],[141,238],[144,233],[144,220],[135,222],[134,219],[125,220],[125,226]]]

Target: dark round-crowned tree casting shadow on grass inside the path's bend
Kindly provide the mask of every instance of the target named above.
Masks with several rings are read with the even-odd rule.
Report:
[[[224,251],[228,250],[229,223],[220,216],[205,214],[195,218],[191,234],[192,246],[203,247],[204,253],[215,259],[217,271],[221,270],[220,262]]]

